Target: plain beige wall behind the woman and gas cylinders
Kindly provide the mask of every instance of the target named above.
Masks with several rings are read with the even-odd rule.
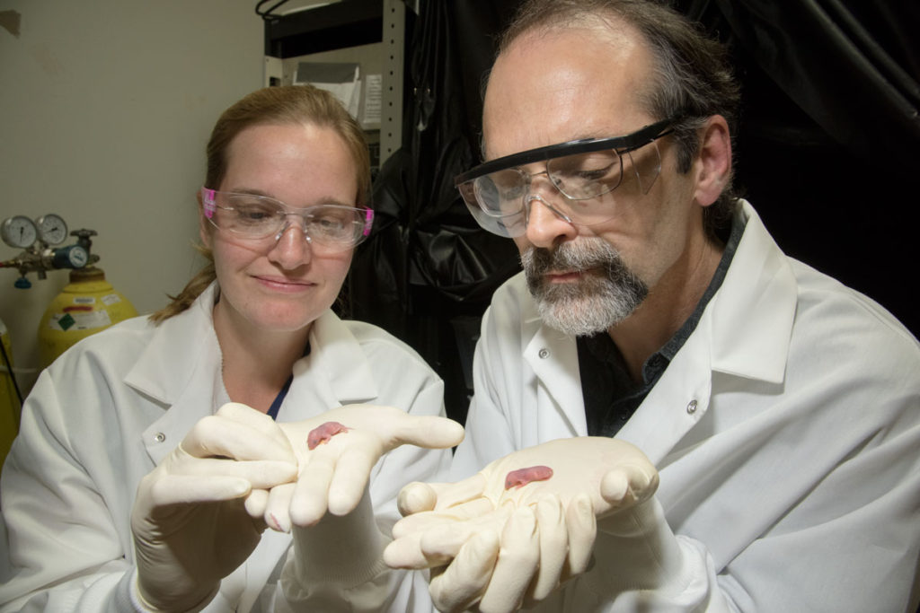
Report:
[[[139,312],[161,307],[201,265],[194,194],[213,121],[262,84],[255,4],[0,0],[0,221],[54,212],[96,230],[112,285]],[[0,243],[0,260],[17,253]],[[68,273],[30,274],[25,290],[17,277],[0,269],[0,319],[28,390]]]

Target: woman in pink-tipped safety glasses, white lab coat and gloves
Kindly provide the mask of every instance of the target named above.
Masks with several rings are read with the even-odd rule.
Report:
[[[431,610],[380,552],[399,487],[449,461],[415,446],[462,428],[408,346],[330,310],[373,219],[361,128],[322,90],[272,87],[224,112],[207,156],[211,263],[66,352],[25,403],[0,605]]]

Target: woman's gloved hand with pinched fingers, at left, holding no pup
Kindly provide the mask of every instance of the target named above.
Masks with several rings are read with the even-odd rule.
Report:
[[[207,605],[265,529],[247,514],[244,497],[296,474],[288,439],[268,415],[229,403],[201,419],[138,486],[131,527],[144,606]]]

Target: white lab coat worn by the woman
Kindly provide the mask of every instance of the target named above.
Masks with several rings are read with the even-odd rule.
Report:
[[[138,482],[227,401],[214,292],[212,285],[190,310],[159,326],[139,317],[90,336],[41,373],[3,471],[9,559],[0,572],[9,574],[0,582],[0,609],[131,610],[130,514]],[[383,330],[326,312],[313,325],[310,347],[294,365],[279,421],[346,403],[443,414],[442,381]],[[399,488],[443,480],[449,461],[449,449],[411,446],[378,461],[370,493],[385,535],[398,518]],[[273,607],[267,603],[281,592],[277,578],[290,543],[290,535],[266,531],[205,610]],[[388,610],[412,610],[416,602],[430,610],[420,573],[392,575]]]

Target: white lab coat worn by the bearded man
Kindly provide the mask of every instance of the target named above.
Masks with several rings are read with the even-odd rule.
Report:
[[[914,613],[917,341],[875,302],[783,255],[750,204],[740,214],[721,288],[617,435],[658,467],[693,585],[675,601],[612,604],[581,579],[539,610]],[[496,291],[474,377],[452,480],[587,434],[574,339],[541,324],[522,276]]]

